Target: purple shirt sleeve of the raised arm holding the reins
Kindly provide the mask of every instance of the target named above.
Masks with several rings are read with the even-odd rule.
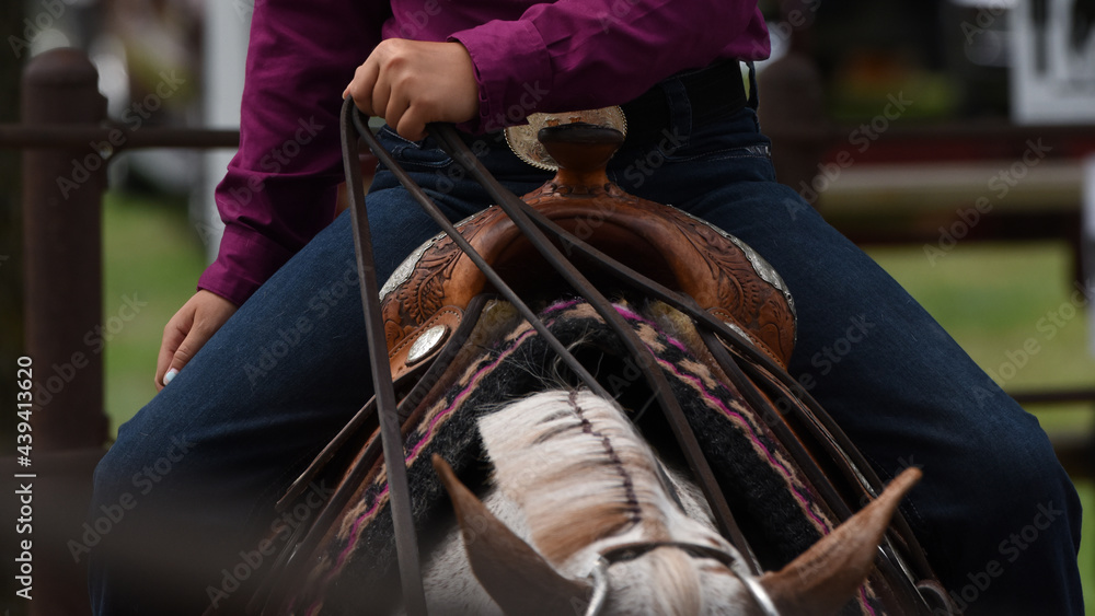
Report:
[[[769,54],[757,3],[742,0],[558,0],[450,39],[475,65],[480,117],[468,128],[484,131],[532,112],[624,103],[716,58]]]

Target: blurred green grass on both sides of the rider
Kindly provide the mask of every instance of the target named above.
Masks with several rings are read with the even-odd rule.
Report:
[[[187,222],[185,202],[111,193],[104,204],[104,315],[118,314],[125,298],[148,302],[107,341],[106,409],[113,430],[155,393],[152,375],[163,325],[194,292],[205,267],[204,247]],[[1003,385],[1010,392],[1095,386],[1095,359],[1087,351],[1088,324],[1077,312],[1052,326],[1072,291],[1071,256],[1063,243],[959,244],[932,266],[919,246],[869,248],[868,253],[901,282],[982,368],[1001,367],[1034,338],[1038,351]],[[1063,314],[1068,314],[1064,311]],[[1063,314],[1061,316],[1063,316]],[[1039,323],[1042,329],[1039,329]],[[1056,431],[1090,431],[1088,407],[1031,409]],[[1088,512],[1095,487],[1079,485]],[[1095,536],[1095,516],[1084,516],[1084,536]],[[1095,615],[1095,548],[1080,555],[1084,590]]]

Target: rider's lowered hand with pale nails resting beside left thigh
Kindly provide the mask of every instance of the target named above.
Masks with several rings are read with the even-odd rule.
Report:
[[[198,291],[163,328],[155,361],[155,391],[160,391],[191,361],[214,333],[235,313],[235,304],[209,291]],[[169,371],[174,371],[164,382]]]

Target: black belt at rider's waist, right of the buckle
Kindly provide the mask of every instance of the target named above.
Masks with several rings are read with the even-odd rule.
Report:
[[[692,126],[725,119],[749,103],[740,63],[736,60],[719,61],[670,79],[679,80],[684,86]],[[669,95],[660,83],[621,107],[627,117],[624,147],[657,143],[664,138],[662,131],[672,129]]]

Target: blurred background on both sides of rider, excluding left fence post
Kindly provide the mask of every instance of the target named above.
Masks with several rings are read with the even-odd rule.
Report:
[[[1095,211],[1095,0],[761,7],[773,38],[773,59],[759,66],[761,120],[781,179],[1038,415],[1095,510],[1095,345],[1087,298],[1076,292],[1095,276],[1085,267],[1095,217],[1084,216]],[[251,11],[249,0],[5,0],[0,123],[20,120],[27,61],[73,47],[97,69],[116,123],[238,128]],[[212,187],[232,149],[99,154],[108,161],[103,327],[85,350],[104,360],[111,438],[154,394],[163,325],[216,253]],[[5,371],[27,352],[21,156],[0,148]],[[4,374],[0,399],[12,399]],[[14,421],[0,417],[4,455],[14,455]],[[1090,544],[1081,563],[1095,606]],[[24,613],[11,596],[5,590],[0,609]]]

